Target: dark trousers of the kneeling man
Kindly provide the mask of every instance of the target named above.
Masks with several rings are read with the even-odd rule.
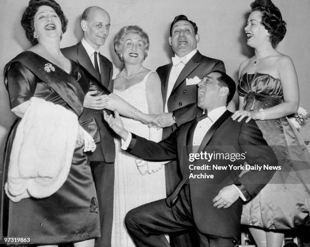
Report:
[[[164,234],[184,230],[195,230],[201,247],[234,247],[234,239],[210,236],[196,229],[188,184],[171,208],[165,199],[142,205],[127,213],[125,224],[137,247],[170,247]]]

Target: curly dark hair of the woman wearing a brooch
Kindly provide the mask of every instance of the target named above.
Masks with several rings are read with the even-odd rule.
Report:
[[[32,45],[37,44],[36,38],[33,37],[34,32],[34,16],[41,6],[49,6],[51,7],[61,21],[61,30],[65,33],[67,29],[68,20],[63,14],[59,4],[57,4],[54,0],[30,0],[28,7],[23,13],[22,19],[20,21],[22,27],[25,29],[26,37],[31,42]]]

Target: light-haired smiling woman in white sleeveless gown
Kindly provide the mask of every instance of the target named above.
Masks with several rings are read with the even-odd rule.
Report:
[[[161,82],[158,74],[142,66],[147,56],[149,39],[139,26],[123,27],[114,38],[114,49],[125,68],[114,80],[113,93],[121,96],[141,112],[163,112]],[[139,136],[160,141],[162,129],[149,128],[134,119],[122,117],[126,128]],[[146,162],[121,149],[120,138],[115,138],[115,179],[112,247],[134,247],[124,219],[126,213],[142,204],[166,196],[163,163]]]

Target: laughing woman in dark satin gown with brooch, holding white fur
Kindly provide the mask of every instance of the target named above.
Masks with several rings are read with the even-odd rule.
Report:
[[[5,67],[11,111],[19,119],[8,137],[2,191],[8,176],[13,140],[17,137],[16,130],[31,98],[41,98],[80,116],[91,79],[84,68],[66,59],[60,52],[60,39],[66,30],[67,20],[54,0],[31,0],[21,23],[34,46]],[[106,90],[104,93],[109,92]],[[107,109],[120,107],[121,113],[140,121],[149,123],[153,119],[116,95],[110,94],[108,104]],[[24,240],[8,244],[58,245],[73,242],[78,247],[94,246],[94,238],[100,236],[98,205],[89,162],[84,153],[94,143],[91,138],[85,141],[87,134],[81,128],[79,126],[68,176],[55,193],[44,198],[30,196],[18,202],[8,201],[6,194],[0,193],[0,235]],[[6,192],[12,196],[10,188]],[[4,229],[7,233],[3,232]]]

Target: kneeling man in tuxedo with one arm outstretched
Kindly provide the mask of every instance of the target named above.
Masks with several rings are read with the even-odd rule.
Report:
[[[170,246],[164,233],[188,229],[196,230],[201,246],[233,247],[236,243],[240,234],[242,201],[255,196],[274,172],[257,169],[241,175],[241,170],[235,169],[239,169],[244,161],[253,167],[277,165],[277,159],[254,120],[246,123],[231,119],[232,113],[226,110],[226,105],[235,91],[234,80],[224,72],[214,71],[203,77],[198,83],[198,107],[207,112],[208,117],[199,117],[181,125],[159,143],[128,132],[117,111],[114,112],[115,117],[105,113],[109,126],[125,141],[123,149],[145,160],[177,159],[183,176],[166,200],[145,204],[128,212],[125,224],[136,246]],[[198,156],[224,154],[227,147],[245,159],[213,159],[211,162],[188,159],[195,153]],[[228,155],[232,157],[234,152]],[[211,169],[192,170],[193,166],[203,164],[210,164]],[[215,169],[212,167],[215,164],[226,166],[226,170]],[[230,170],[229,165],[235,169]]]

